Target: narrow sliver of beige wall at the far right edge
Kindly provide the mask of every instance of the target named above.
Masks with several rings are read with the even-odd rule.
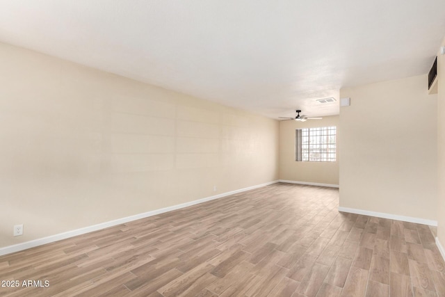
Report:
[[[445,47],[445,38],[442,42]],[[445,56],[437,54],[437,79],[439,88],[437,94],[437,236],[445,248]]]

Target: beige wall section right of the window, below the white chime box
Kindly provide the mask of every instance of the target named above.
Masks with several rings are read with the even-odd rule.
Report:
[[[340,206],[437,219],[437,95],[427,76],[343,88]]]

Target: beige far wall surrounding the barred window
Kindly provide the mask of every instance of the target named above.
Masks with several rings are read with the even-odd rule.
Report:
[[[312,127],[337,127],[337,143],[340,139],[339,116],[323,117],[322,120],[280,122],[280,179],[317,184],[339,184],[339,153],[336,162],[295,161],[295,130]]]

